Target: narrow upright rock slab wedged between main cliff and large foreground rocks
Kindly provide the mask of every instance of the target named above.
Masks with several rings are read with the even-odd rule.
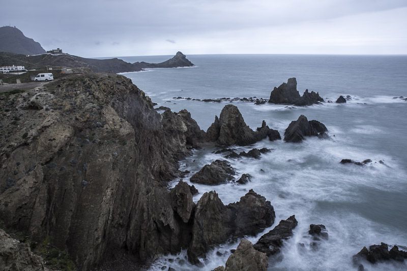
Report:
[[[181,217],[184,223],[189,221],[195,204],[192,193],[187,183],[180,181],[171,189],[172,209]]]

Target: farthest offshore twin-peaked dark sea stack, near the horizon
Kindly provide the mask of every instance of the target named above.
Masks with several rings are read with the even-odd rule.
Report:
[[[278,88],[274,87],[269,99],[269,103],[295,106],[310,106],[323,101],[318,92],[309,92],[308,89],[300,96],[296,78],[289,78],[287,83],[282,83]]]

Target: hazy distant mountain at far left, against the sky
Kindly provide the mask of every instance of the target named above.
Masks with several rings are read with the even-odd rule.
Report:
[[[0,52],[11,52],[16,54],[43,54],[44,48],[27,38],[16,27],[0,27]]]

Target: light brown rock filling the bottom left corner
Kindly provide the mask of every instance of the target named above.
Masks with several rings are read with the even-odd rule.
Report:
[[[31,252],[30,245],[12,239],[0,229],[0,270],[45,270],[40,256]]]

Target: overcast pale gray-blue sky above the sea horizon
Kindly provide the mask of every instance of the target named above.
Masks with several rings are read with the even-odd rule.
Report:
[[[0,26],[83,57],[407,54],[407,0],[19,0]]]

